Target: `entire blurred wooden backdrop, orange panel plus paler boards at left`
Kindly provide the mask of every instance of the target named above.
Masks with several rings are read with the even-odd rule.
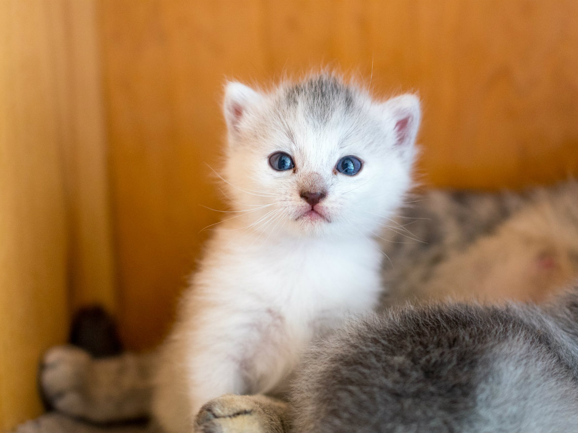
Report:
[[[426,186],[578,176],[576,0],[0,0],[0,430],[80,305],[161,341],[224,208],[223,83],[320,65],[420,94]]]

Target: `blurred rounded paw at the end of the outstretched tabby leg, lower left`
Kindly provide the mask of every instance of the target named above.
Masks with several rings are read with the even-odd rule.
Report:
[[[83,417],[92,357],[75,346],[49,349],[40,366],[40,386],[47,403],[66,415]]]

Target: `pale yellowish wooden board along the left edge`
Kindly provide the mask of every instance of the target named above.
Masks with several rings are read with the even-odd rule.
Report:
[[[66,335],[66,232],[51,29],[0,3],[0,430],[38,415],[39,354]]]

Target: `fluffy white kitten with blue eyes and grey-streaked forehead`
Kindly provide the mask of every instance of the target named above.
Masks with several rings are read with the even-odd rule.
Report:
[[[372,101],[328,74],[258,92],[229,83],[217,226],[163,350],[153,410],[191,431],[221,394],[283,391],[303,349],[377,304],[373,240],[411,185],[419,102]]]

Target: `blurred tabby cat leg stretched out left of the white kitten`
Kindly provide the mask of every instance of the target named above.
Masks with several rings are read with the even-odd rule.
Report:
[[[40,369],[43,394],[53,408],[95,423],[150,415],[155,354],[92,358],[75,346],[47,351]]]

